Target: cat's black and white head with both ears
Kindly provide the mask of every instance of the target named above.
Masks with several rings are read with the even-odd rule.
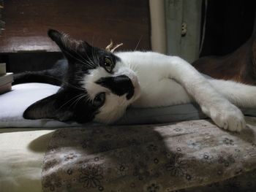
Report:
[[[32,104],[24,118],[113,123],[138,99],[138,78],[121,58],[59,31],[48,35],[67,58],[67,74],[59,91]]]

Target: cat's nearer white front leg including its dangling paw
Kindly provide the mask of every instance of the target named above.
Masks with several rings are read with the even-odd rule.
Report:
[[[217,126],[230,131],[241,131],[246,127],[241,110],[222,96],[193,66],[178,57],[163,59],[166,60],[164,67],[168,77],[184,86]]]

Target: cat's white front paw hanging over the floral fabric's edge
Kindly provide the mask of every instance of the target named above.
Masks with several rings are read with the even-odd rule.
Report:
[[[244,115],[238,107],[233,104],[224,104],[210,107],[202,107],[203,112],[206,113],[220,128],[229,131],[241,131],[246,127]]]

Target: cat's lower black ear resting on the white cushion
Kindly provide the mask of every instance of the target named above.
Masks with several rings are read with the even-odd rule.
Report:
[[[61,110],[57,103],[61,100],[60,97],[63,96],[63,93],[59,92],[31,104],[23,113],[23,118],[32,120],[43,118],[61,121],[69,120],[72,117],[72,112]]]

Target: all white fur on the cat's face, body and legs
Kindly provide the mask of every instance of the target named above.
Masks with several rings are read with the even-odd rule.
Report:
[[[206,80],[197,70],[176,56],[152,52],[115,53],[117,62],[113,74],[102,67],[85,76],[84,86],[91,99],[102,91],[108,93],[96,120],[113,122],[123,115],[127,106],[160,107],[196,101],[217,126],[230,131],[245,128],[239,107],[256,106],[256,88],[238,82]],[[135,96],[127,100],[94,83],[100,77],[126,74],[135,86]],[[232,104],[232,103],[233,104]]]

